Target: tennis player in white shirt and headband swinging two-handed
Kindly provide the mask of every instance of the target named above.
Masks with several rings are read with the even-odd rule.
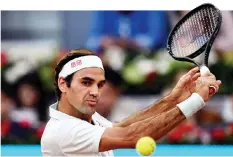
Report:
[[[58,102],[49,108],[41,139],[43,156],[113,156],[112,150],[135,148],[140,137],[158,140],[191,117],[210,99],[209,86],[221,81],[199,68],[183,75],[172,92],[120,123],[111,123],[96,112],[105,84],[101,59],[86,49],[75,49],[57,65]]]

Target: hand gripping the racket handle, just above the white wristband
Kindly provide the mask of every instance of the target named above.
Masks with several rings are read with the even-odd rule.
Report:
[[[198,93],[206,102],[215,94],[210,92],[209,87],[214,86],[217,92],[220,85],[221,81],[216,80],[216,77],[213,74],[209,73],[197,79],[195,92]]]

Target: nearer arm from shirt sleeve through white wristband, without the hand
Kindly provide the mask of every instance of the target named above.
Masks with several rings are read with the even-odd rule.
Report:
[[[193,93],[188,99],[168,111],[137,121],[127,127],[108,128],[102,135],[100,150],[135,148],[137,141],[144,136],[158,140],[204,106],[201,96]]]

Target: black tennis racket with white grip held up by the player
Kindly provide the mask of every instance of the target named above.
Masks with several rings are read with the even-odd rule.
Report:
[[[194,63],[201,75],[210,73],[208,58],[212,44],[219,32],[222,15],[210,3],[202,4],[188,12],[170,32],[167,40],[168,53],[178,61]],[[195,60],[199,55],[201,60]],[[216,88],[210,86],[210,93]]]

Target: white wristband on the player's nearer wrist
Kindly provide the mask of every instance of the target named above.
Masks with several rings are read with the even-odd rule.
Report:
[[[199,94],[193,93],[188,99],[176,106],[181,110],[186,118],[189,118],[203,108],[205,106],[205,102]]]

